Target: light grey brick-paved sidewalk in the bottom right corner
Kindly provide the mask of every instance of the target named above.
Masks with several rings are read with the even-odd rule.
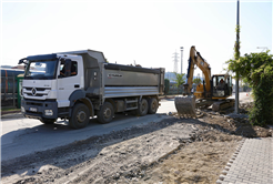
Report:
[[[216,184],[272,184],[273,139],[244,139]]]

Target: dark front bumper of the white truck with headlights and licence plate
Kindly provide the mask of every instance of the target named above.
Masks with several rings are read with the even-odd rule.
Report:
[[[58,103],[55,101],[51,102],[22,99],[21,106],[22,113],[26,117],[38,120],[58,117]],[[48,112],[47,114],[46,111]]]

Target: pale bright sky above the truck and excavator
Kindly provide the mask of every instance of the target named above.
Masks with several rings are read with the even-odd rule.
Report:
[[[183,47],[185,73],[195,45],[218,74],[233,59],[236,0],[1,0],[0,6],[0,65],[17,65],[28,55],[91,49],[112,63],[169,72],[178,52],[180,72]],[[272,0],[240,1],[241,55],[272,50]]]

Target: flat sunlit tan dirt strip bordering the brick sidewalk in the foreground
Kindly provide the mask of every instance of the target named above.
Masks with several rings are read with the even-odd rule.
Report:
[[[215,183],[242,137],[210,130],[193,139],[149,167],[139,183]]]

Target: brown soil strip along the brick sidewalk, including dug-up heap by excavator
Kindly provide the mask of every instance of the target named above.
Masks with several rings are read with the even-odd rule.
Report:
[[[209,126],[202,126],[193,134],[191,144],[182,145],[168,159],[149,167],[139,183],[215,183],[242,139],[272,136],[271,129],[252,126],[249,122],[247,111],[252,105],[240,104],[239,115],[229,114],[234,109],[221,113],[199,111],[201,124]],[[176,116],[176,113],[172,115]]]

